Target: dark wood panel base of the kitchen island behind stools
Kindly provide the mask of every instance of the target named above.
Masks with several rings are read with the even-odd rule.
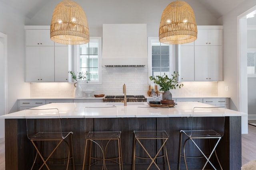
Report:
[[[210,117],[201,117],[202,121],[207,122]],[[86,121],[85,121],[86,120]],[[43,121],[43,119],[42,119]],[[169,135],[167,141],[168,158],[171,169],[178,168],[179,153],[179,131],[188,128],[188,117],[163,117],[163,118],[70,118],[62,119],[64,131],[73,131],[74,157],[76,170],[82,169],[85,134],[88,131],[122,131],[122,156],[124,170],[132,169],[132,151],[134,130],[165,130]],[[5,119],[5,135],[6,135],[6,170],[28,170],[32,165],[35,150],[32,143],[26,136],[26,120],[25,119]],[[158,142],[152,145],[149,143],[146,147],[150,148],[150,152],[155,152]],[[203,146],[205,144],[202,144]],[[208,147],[208,146],[207,146]],[[206,148],[207,148],[206,147]],[[190,152],[194,152],[191,147]],[[241,117],[226,117],[225,133],[217,147],[218,156],[220,158],[223,169],[240,170],[242,165],[241,151]],[[111,149],[109,150],[112,151]],[[87,151],[88,152],[88,151]],[[88,159],[86,160],[88,162]],[[200,167],[204,160],[190,161],[189,165]],[[213,162],[216,162],[215,160]],[[158,163],[161,165],[162,160]],[[138,165],[138,166],[137,166]],[[53,165],[52,165],[53,166]],[[111,165],[110,165],[111,166]],[[136,160],[136,167],[143,169],[147,166],[147,162]],[[161,167],[161,166],[160,166]],[[101,169],[101,166],[94,167],[94,170]],[[184,166],[182,166],[184,169]],[[54,168],[55,170],[58,168]],[[113,168],[114,169],[114,168]]]

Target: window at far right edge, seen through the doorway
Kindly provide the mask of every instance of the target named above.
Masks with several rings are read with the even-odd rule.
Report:
[[[249,77],[256,77],[256,49],[247,51],[247,74]]]

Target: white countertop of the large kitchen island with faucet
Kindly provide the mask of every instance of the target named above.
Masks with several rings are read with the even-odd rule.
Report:
[[[110,106],[112,109],[106,108]],[[103,108],[90,108],[103,107]],[[51,103],[36,109],[58,108],[61,118],[117,118],[117,117],[190,117],[194,107],[212,107],[200,102],[177,102],[174,107],[150,107],[146,102],[123,103]],[[113,108],[115,110],[113,110]],[[108,111],[109,110],[109,111]],[[200,114],[202,117],[218,117],[218,112]],[[226,109],[226,116],[247,116],[246,113]],[[2,119],[24,119],[25,110],[0,116]],[[32,115],[30,118],[48,118],[47,115]]]

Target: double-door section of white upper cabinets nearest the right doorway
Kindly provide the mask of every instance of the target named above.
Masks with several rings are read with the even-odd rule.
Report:
[[[198,29],[195,41],[195,81],[222,81],[222,28]]]

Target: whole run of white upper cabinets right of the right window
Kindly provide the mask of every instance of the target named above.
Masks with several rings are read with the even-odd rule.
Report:
[[[198,37],[179,46],[180,81],[222,81],[222,26],[198,26]]]

